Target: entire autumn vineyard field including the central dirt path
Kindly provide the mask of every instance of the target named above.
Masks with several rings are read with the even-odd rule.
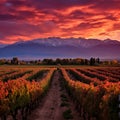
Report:
[[[0,66],[0,120],[119,120],[120,67]]]

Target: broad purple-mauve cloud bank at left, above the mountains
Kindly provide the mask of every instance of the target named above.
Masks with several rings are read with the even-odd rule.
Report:
[[[54,28],[57,28],[52,21],[46,21],[39,25],[1,21],[0,26],[2,28],[2,31],[0,32],[1,40],[6,38],[8,39],[13,36],[21,36],[21,38],[27,36],[27,38],[29,38],[31,36],[38,36],[40,34],[52,32],[54,31]]]

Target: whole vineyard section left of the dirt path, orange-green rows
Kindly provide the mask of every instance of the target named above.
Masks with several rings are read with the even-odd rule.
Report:
[[[28,113],[39,104],[50,84],[54,68],[15,68],[0,71],[0,116],[6,119]]]

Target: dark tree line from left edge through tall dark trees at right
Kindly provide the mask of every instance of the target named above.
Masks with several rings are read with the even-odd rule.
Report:
[[[26,64],[35,64],[35,65],[99,65],[99,58],[64,58],[64,59],[43,59],[43,60],[19,60],[18,57],[13,57],[11,60],[0,59],[0,64],[12,64],[12,65],[26,65]]]

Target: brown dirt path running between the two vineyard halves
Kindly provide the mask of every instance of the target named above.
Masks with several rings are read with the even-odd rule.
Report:
[[[63,112],[67,109],[72,111],[73,120],[81,120],[75,112],[76,110],[71,101],[68,101],[69,108],[65,106],[61,107],[61,95],[64,94],[67,96],[67,94],[65,90],[61,90],[59,77],[60,73],[56,71],[47,95],[38,108],[28,117],[28,120],[65,120]]]

